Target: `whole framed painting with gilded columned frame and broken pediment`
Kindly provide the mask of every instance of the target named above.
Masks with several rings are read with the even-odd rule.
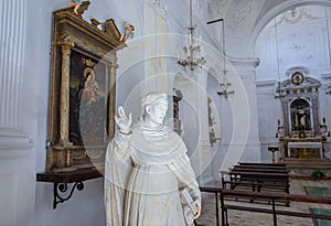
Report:
[[[117,51],[126,44],[113,19],[98,28],[82,18],[88,4],[53,12],[46,172],[102,168],[114,136]]]

